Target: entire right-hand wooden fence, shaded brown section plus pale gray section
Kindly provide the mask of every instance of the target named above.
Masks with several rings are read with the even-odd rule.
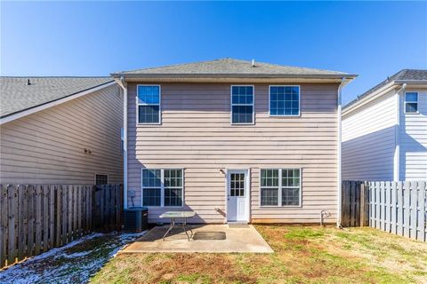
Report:
[[[342,225],[427,241],[427,181],[343,181]]]

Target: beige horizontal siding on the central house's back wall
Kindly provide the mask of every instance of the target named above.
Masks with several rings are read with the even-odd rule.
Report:
[[[142,83],[142,82],[141,82]],[[248,83],[251,84],[251,83]],[[136,84],[128,85],[129,206],[141,205],[141,168],[184,169],[185,207],[195,222],[226,221],[226,177],[251,169],[251,218],[264,222],[336,220],[337,84],[302,84],[301,117],[270,117],[269,86],[254,85],[254,125],[230,125],[230,84],[164,83],[162,124],[136,125]],[[302,168],[302,207],[261,208],[262,168]],[[215,207],[220,211],[216,211]],[[167,208],[150,208],[149,221]]]

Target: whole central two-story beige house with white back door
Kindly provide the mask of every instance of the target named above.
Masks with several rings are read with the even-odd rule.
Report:
[[[339,93],[355,75],[217,59],[112,76],[127,97],[125,207],[148,206],[150,222],[173,209],[192,222],[318,223],[324,209],[336,221]]]

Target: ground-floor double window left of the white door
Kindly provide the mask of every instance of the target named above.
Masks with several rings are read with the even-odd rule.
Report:
[[[183,170],[142,169],[142,205],[181,207]]]

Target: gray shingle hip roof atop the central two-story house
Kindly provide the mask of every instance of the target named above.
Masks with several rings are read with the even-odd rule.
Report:
[[[111,74],[115,77],[121,75],[133,76],[155,76],[155,75],[248,75],[248,76],[309,76],[309,75],[347,75],[346,73],[305,68],[280,66],[270,63],[255,61],[255,67],[252,67],[252,61],[240,59],[215,59],[210,61],[201,61],[187,64],[171,65],[165,67],[152,67],[137,69],[132,71],[123,71]]]

